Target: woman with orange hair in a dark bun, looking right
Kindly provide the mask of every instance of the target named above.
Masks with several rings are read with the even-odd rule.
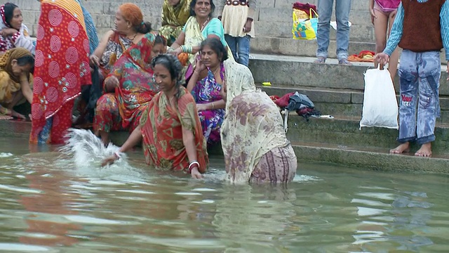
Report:
[[[102,79],[126,49],[137,44],[144,34],[152,30],[150,22],[144,22],[142,11],[135,4],[122,4],[115,13],[114,30],[106,32],[100,44],[89,57],[91,65],[100,67]]]

